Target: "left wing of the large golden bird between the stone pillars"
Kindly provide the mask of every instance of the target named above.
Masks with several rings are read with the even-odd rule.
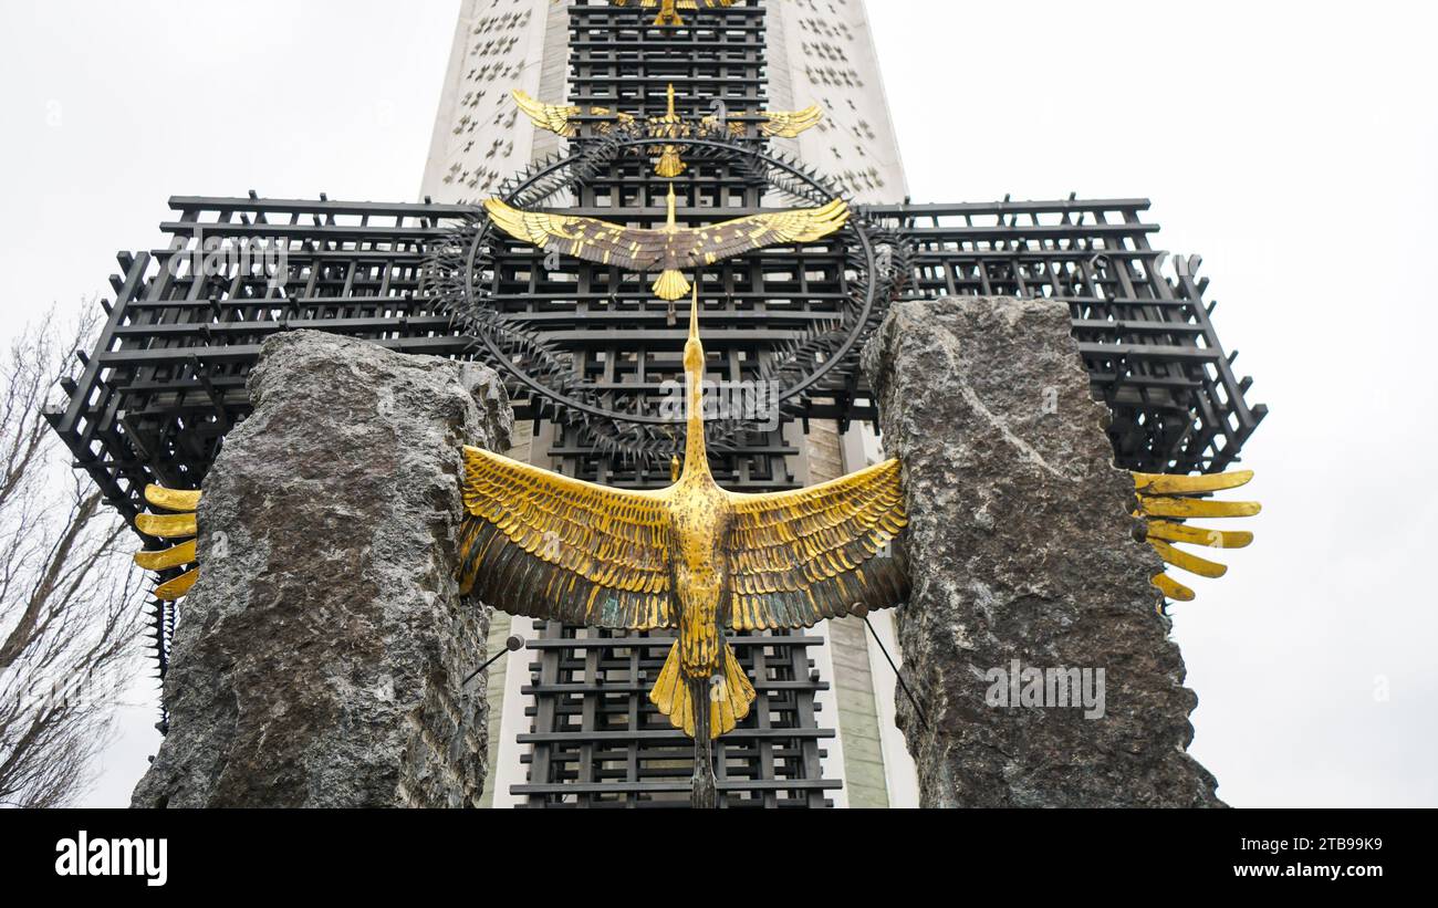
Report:
[[[677,624],[664,510],[653,493],[466,447],[464,510],[460,589],[486,605],[598,628]]]

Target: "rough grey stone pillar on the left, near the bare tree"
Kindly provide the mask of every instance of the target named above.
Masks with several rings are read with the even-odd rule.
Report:
[[[460,445],[513,422],[493,371],[296,330],[200,500],[170,734],[134,806],[472,806],[489,619],[462,602]]]

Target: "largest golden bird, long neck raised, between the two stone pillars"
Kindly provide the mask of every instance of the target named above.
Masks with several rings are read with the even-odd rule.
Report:
[[[725,634],[903,602],[906,572],[883,552],[907,517],[896,460],[795,491],[720,488],[705,451],[697,290],[683,365],[687,438],[667,488],[608,488],[466,447],[460,588],[512,615],[677,629],[649,698],[695,738],[692,803],[707,807],[710,740],[755,698]]]

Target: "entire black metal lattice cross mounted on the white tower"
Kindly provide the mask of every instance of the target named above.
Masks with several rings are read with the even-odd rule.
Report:
[[[764,9],[736,6],[657,30],[653,11],[569,7],[571,91],[581,105],[660,114],[673,83],[689,114],[764,106]],[[585,125],[591,135],[594,124]],[[581,139],[582,141],[582,139]],[[521,174],[512,181],[525,180]],[[759,210],[765,185],[718,158],[697,155],[676,187],[683,205],[715,220]],[[649,162],[618,157],[569,187],[582,214],[653,223],[667,184]],[[49,414],[109,501],[132,519],[157,481],[197,488],[224,434],[250,409],[244,381],[272,333],[302,328],[370,339],[395,351],[464,358],[466,338],[426,263],[475,216],[467,205],[175,197],[161,228],[168,249],[121,254],[114,303],[69,401]],[[1232,463],[1264,417],[1244,401],[1204,302],[1206,280],[1183,261],[1160,274],[1155,224],[1143,200],[1002,201],[877,205],[864,216],[903,237],[912,253],[907,293],[1043,296],[1068,303],[1096,397],[1113,411],[1116,461],[1149,471],[1217,471]],[[207,257],[206,241],[282,246],[283,280],[263,269]],[[495,250],[490,297],[508,319],[565,355],[574,375],[605,399],[653,394],[680,372],[683,329],[669,323],[644,276],[565,260],[551,273],[542,253],[518,243]],[[831,323],[848,293],[851,266],[837,246],[775,250],[706,270],[705,345],[715,376],[749,379],[766,356],[815,325]],[[516,355],[519,355],[516,352]],[[555,412],[510,384],[516,414],[536,425]],[[795,420],[874,418],[860,372],[827,376]],[[538,454],[562,473],[615,486],[660,486],[666,464],[604,453],[582,424],[557,421]],[[798,451],[779,430],[745,434],[712,465],[733,488],[794,484],[785,460]],[[161,609],[160,636],[173,622]],[[738,639],[759,688],[751,718],[719,749],[720,790],[731,806],[827,803],[814,695],[815,638]],[[687,749],[647,703],[647,678],[667,642],[610,638],[551,625],[535,652],[529,782],[533,806],[661,806],[687,792]],[[164,644],[161,644],[164,657]],[[162,664],[162,662],[161,662]]]

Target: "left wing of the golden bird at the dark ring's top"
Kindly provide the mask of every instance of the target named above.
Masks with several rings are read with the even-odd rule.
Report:
[[[567,256],[585,261],[643,272],[664,259],[667,236],[660,230],[624,227],[592,217],[522,211],[499,198],[486,198],[485,210],[496,227],[516,240],[539,249],[552,243]]]

